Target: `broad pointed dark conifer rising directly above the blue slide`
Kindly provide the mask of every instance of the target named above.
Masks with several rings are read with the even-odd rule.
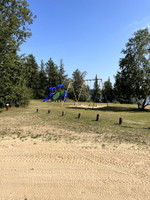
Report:
[[[59,72],[57,65],[50,58],[46,63],[46,73],[48,77],[48,88],[56,87],[59,84]]]

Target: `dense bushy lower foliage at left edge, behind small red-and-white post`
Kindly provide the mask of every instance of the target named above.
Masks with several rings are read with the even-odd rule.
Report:
[[[3,67],[3,69],[2,69]],[[25,106],[29,103],[30,93],[26,87],[23,65],[18,56],[5,59],[0,71],[0,107],[6,103],[11,106]]]

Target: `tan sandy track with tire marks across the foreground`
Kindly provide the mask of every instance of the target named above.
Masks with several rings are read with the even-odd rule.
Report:
[[[121,145],[0,142],[0,200],[149,200],[150,152]]]

